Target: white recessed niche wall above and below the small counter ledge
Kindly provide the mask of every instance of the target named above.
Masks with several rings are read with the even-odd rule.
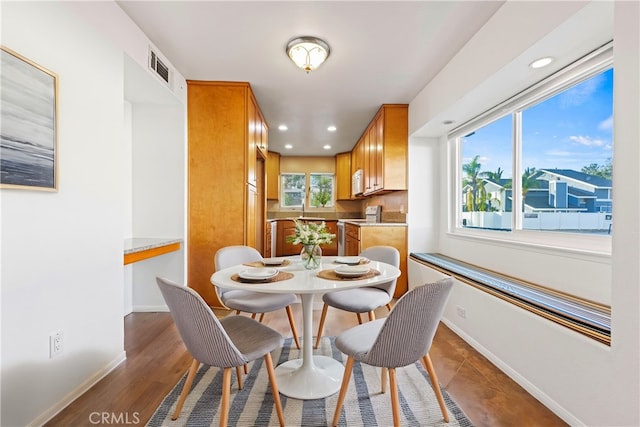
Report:
[[[184,106],[133,107],[133,237],[185,236]],[[156,276],[186,283],[185,246],[131,264],[133,311],[167,311]]]

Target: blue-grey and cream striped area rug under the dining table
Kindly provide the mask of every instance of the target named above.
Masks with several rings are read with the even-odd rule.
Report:
[[[334,345],[334,337],[324,337],[314,354],[333,357],[343,364],[346,356]],[[274,365],[289,359],[301,357],[301,350],[291,346],[292,339],[287,338],[281,350],[272,354]],[[440,407],[431,388],[429,375],[420,363],[396,369],[399,390],[400,410],[403,426],[462,426],[472,427],[469,419],[456,405],[445,390],[444,400],[449,410],[449,423],[442,419]],[[150,427],[159,426],[218,426],[220,407],[220,389],[222,372],[218,368],[201,366],[193,382],[191,393],[185,401],[180,417],[171,421],[182,390],[186,375],[171,390],[160,404],[149,423]],[[235,374],[232,375],[231,403],[229,407],[229,426],[277,426],[278,417],[273,406],[273,396],[269,386],[264,359],[249,365],[249,374],[243,379],[243,389],[238,390]],[[328,426],[338,393],[325,399],[298,400],[280,395],[287,426]],[[345,398],[341,426],[380,426],[393,425],[389,383],[387,392],[380,393],[380,369],[355,363],[351,383]]]

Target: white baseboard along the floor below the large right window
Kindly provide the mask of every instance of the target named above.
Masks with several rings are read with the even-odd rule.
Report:
[[[483,347],[476,340],[467,335],[463,330],[458,328],[453,322],[449,321],[446,318],[442,318],[442,323],[447,325],[449,329],[451,329],[456,335],[462,338],[467,344],[473,347],[478,353],[482,354],[484,357],[489,359],[491,363],[493,363],[498,369],[504,372],[509,378],[518,383],[522,388],[524,388],[530,395],[538,399],[544,406],[549,408],[551,412],[560,417],[564,422],[569,425],[585,425],[582,421],[576,418],[573,414],[568,412],[564,407],[562,407],[558,402],[553,400],[549,395],[544,393],[534,384],[532,384],[528,379],[520,375],[517,371],[513,370],[509,365],[504,363],[502,359],[497,357],[491,351]]]

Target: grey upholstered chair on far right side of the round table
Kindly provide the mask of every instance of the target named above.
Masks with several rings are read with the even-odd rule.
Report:
[[[385,262],[394,267],[400,267],[400,252],[393,246],[371,246],[360,252],[360,256],[373,261]],[[393,279],[390,282],[381,283],[376,286],[347,289],[324,294],[322,296],[324,304],[322,306],[322,314],[320,315],[320,323],[318,324],[315,348],[318,348],[320,345],[329,306],[356,313],[359,324],[362,324],[360,313],[368,313],[369,320],[375,320],[376,315],[373,310],[376,308],[386,305],[387,309],[391,310],[390,302],[393,298],[393,292],[396,289],[396,282],[397,279]]]

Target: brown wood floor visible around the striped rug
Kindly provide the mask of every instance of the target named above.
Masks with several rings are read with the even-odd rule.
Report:
[[[386,309],[381,309],[376,315],[385,314]],[[299,304],[294,306],[294,315],[301,332]],[[320,311],[314,312],[316,327],[319,317]],[[284,310],[266,314],[264,323],[291,336]],[[325,335],[337,335],[356,324],[354,314],[330,308]],[[108,422],[98,424],[148,422],[191,359],[169,313],[132,313],[125,317],[124,328],[127,360],[46,426],[95,426],[97,417],[104,414]],[[440,383],[475,426],[567,425],[443,324],[430,354]]]

